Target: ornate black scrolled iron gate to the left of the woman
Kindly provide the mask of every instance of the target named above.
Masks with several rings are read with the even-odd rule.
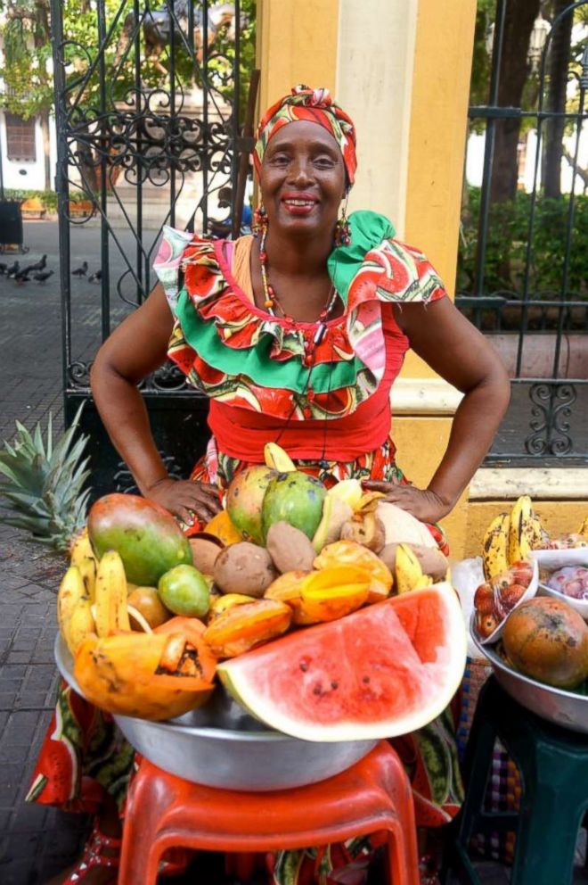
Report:
[[[96,494],[133,480],[91,400],[94,354],[149,294],[163,224],[222,234],[233,219],[241,40],[254,28],[242,6],[86,0],[80,14],[78,0],[74,15],[52,0],[65,420],[86,401]],[[187,476],[207,441],[205,399],[171,363],[142,389],[170,474]]]

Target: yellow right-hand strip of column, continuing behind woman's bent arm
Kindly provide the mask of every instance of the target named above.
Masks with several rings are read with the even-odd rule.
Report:
[[[476,0],[450,4],[419,0],[404,236],[407,243],[427,254],[451,294],[455,285],[475,21]],[[409,352],[403,376],[396,383],[396,395],[400,390],[404,393],[400,409],[395,406],[394,390],[392,393],[398,463],[419,485],[429,483],[443,457],[451,429],[448,409],[440,406],[439,382],[435,378],[432,369]],[[443,521],[455,557],[460,557],[466,546],[467,509],[464,492]]]

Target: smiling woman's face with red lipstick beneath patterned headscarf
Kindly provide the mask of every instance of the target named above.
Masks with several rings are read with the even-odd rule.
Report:
[[[260,176],[270,229],[307,235],[332,231],[345,185],[339,145],[322,126],[298,120],[270,139]]]

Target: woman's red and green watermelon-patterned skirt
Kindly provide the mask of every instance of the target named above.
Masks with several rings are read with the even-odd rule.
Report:
[[[349,463],[298,461],[306,473],[327,486],[342,479],[377,479],[405,484],[396,467],[395,448],[388,441]],[[194,467],[192,479],[217,484],[225,490],[233,476],[247,465],[216,451],[214,439]],[[429,525],[440,550],[448,552],[445,536]],[[194,530],[192,529],[192,532]],[[392,740],[412,782],[416,822],[438,827],[452,820],[463,798],[457,758],[453,713],[450,709],[418,732]],[[94,813],[102,790],[116,799],[121,812],[135,763],[128,745],[108,713],[102,713],[61,682],[53,719],[37,760],[27,801],[60,806],[65,811]],[[378,837],[356,839],[345,845],[277,852],[268,858],[274,885],[329,885],[335,881],[364,881]],[[342,870],[351,878],[340,878]],[[356,875],[355,875],[356,873]]]

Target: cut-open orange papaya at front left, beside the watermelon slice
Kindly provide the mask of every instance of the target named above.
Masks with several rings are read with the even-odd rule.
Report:
[[[216,658],[201,629],[173,618],[154,633],[88,637],[74,674],[87,700],[118,715],[159,721],[200,707],[213,690]],[[166,629],[162,629],[166,628]]]

